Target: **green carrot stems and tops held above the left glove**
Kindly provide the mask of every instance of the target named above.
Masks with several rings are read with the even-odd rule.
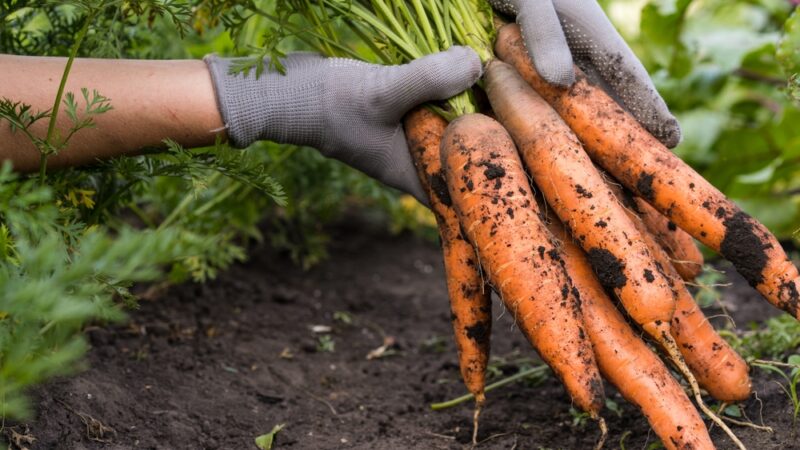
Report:
[[[237,70],[263,71],[264,58],[283,70],[278,45],[297,39],[327,56],[403,64],[454,45],[471,47],[482,62],[492,54],[491,7],[483,0],[289,0],[274,12],[258,10],[264,47]],[[266,23],[264,23],[266,22]],[[475,112],[470,91],[431,105],[448,120]]]

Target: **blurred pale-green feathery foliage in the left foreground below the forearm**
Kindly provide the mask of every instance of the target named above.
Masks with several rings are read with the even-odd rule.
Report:
[[[114,233],[65,222],[54,191],[0,169],[0,411],[28,413],[24,389],[74,371],[90,320],[123,317],[114,299],[136,281],[157,279],[164,264],[213,244],[174,228]]]

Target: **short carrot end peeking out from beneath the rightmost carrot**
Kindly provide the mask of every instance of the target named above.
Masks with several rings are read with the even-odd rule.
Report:
[[[672,266],[687,281],[694,280],[703,271],[703,254],[688,233],[678,228],[641,198],[635,198],[636,209],[647,230],[667,252]]]

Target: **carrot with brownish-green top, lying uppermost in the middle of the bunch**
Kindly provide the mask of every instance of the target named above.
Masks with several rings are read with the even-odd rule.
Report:
[[[637,324],[661,339],[675,311],[672,289],[572,130],[508,64],[491,62],[485,80],[495,114],[600,282]]]

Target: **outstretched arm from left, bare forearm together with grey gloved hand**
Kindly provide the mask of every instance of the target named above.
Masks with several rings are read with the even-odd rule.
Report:
[[[0,98],[52,107],[66,59],[0,56]],[[185,147],[213,144],[218,136],[246,147],[257,140],[308,145],[425,202],[405,141],[403,115],[430,100],[469,88],[481,74],[466,47],[401,66],[379,66],[310,53],[287,56],[286,73],[231,73],[233,60],[140,61],[77,59],[67,91],[96,89],[113,110],[96,127],[75,135],[50,158],[51,167],[136,155],[166,138]],[[59,128],[68,119],[59,117]],[[46,124],[33,131],[46,133]],[[21,133],[0,122],[0,160],[21,171],[39,155]]]

